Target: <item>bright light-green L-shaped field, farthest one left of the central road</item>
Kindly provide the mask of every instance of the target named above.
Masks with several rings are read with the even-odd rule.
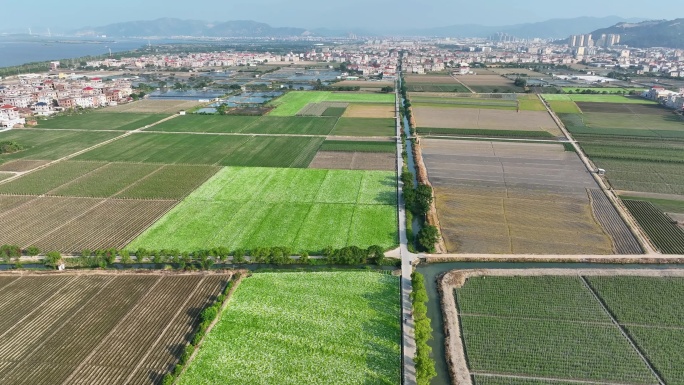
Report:
[[[345,93],[329,91],[292,91],[273,100],[276,107],[269,116],[295,116],[309,103],[349,102],[349,103],[394,103],[394,94]]]

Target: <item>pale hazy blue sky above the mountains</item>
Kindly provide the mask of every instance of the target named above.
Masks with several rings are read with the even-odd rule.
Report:
[[[413,27],[455,24],[506,25],[577,16],[673,19],[682,3],[662,0],[0,0],[0,30],[76,29],[121,21],[177,17],[207,21],[255,20],[277,27],[389,27],[398,20]]]

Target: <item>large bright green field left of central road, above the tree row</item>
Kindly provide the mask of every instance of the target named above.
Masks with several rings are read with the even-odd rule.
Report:
[[[228,167],[128,248],[390,248],[396,216],[393,172]]]

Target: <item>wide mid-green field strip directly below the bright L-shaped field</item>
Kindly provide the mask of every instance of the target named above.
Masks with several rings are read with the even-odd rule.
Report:
[[[336,122],[335,117],[188,115],[147,131],[328,135]]]

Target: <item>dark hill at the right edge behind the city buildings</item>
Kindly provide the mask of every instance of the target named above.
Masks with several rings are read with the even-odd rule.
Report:
[[[684,19],[618,23],[595,30],[592,35],[601,36],[604,33],[622,35],[620,44],[630,47],[684,48]]]

